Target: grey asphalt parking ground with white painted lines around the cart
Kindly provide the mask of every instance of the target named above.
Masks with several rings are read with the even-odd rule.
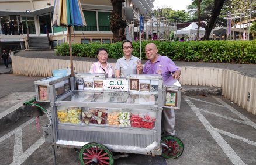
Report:
[[[175,112],[176,136],[184,143],[178,159],[134,155],[115,164],[256,164],[256,117],[223,96],[182,96]],[[52,164],[51,145],[45,142],[41,126],[46,116],[27,117],[15,127],[0,132],[0,164]],[[71,148],[57,148],[57,164],[79,164]]]

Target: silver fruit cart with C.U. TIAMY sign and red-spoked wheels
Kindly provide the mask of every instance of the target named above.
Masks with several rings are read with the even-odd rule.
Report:
[[[80,149],[82,164],[113,164],[112,152],[179,157],[182,142],[161,137],[162,110],[179,109],[181,85],[162,83],[161,75],[76,73],[35,82],[36,101],[50,102],[43,127],[54,146]],[[49,115],[50,114],[50,115]],[[55,162],[55,152],[54,152]]]

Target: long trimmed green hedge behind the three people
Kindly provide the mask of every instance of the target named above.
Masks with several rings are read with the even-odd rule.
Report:
[[[213,63],[256,63],[256,40],[252,41],[142,41],[141,59],[144,55],[145,45],[154,42],[158,53],[169,56],[172,60],[188,62],[213,62]],[[73,56],[95,57],[96,50],[100,47],[108,50],[109,58],[118,59],[123,56],[122,43],[113,44],[72,44]],[[68,44],[57,46],[56,55],[68,56]],[[140,42],[133,42],[133,55],[140,56]]]

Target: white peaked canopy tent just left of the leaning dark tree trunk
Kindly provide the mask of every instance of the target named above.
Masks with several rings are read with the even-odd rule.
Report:
[[[182,28],[181,30],[177,30],[177,32],[174,32],[174,35],[182,35],[182,34],[186,34],[189,36],[189,38],[191,38],[191,35],[196,35],[196,33],[198,32],[198,25],[194,22],[192,22],[191,24],[189,24],[189,26]],[[199,29],[199,35],[204,35],[205,34],[205,28],[200,27]]]

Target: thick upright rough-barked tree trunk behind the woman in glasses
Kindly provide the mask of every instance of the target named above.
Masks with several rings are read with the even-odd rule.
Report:
[[[111,0],[113,11],[110,14],[110,28],[113,32],[114,42],[126,39],[124,31],[127,24],[122,19],[122,2],[125,2],[125,0]]]

